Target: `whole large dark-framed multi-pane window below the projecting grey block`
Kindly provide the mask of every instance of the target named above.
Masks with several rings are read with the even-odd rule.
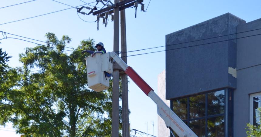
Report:
[[[225,90],[175,99],[172,105],[199,137],[225,136]]]

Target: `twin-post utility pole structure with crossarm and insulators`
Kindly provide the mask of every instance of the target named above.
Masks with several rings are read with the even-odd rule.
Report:
[[[119,11],[121,11],[121,50],[124,62],[127,63],[127,42],[126,42],[126,21],[125,21],[125,9],[131,6],[135,7],[135,18],[137,15],[137,6],[141,4],[141,10],[144,11],[143,0],[114,0],[114,4],[108,0],[96,0],[97,4],[100,2],[106,8],[101,8],[97,10],[97,7],[81,7],[77,9],[80,12],[83,8],[91,9],[89,13],[80,12],[82,14],[97,15],[97,30],[99,30],[99,20],[103,18],[103,24],[105,27],[107,25],[108,15],[112,16],[112,21],[114,21],[114,44],[113,51],[119,55]],[[106,4],[104,2],[107,2]],[[110,3],[110,4],[109,4]],[[96,5],[97,5],[96,4]],[[114,13],[114,15],[112,15]],[[112,130],[111,136],[119,136],[119,79],[120,79],[120,66],[117,63],[113,65],[113,86],[112,86]],[[123,120],[123,136],[129,137],[129,106],[128,106],[128,79],[127,75],[124,73],[121,75],[122,78],[122,120]]]

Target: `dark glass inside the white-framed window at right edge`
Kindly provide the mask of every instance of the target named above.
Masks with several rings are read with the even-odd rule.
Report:
[[[259,123],[259,115],[258,115],[258,108],[261,106],[261,96],[253,97],[253,125],[260,125]]]

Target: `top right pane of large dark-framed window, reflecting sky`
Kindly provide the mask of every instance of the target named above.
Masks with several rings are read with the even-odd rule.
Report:
[[[225,110],[225,91],[208,93],[208,115],[222,114]]]

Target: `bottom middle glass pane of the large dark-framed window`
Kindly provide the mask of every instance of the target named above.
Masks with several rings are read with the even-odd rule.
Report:
[[[205,119],[190,121],[189,127],[198,137],[205,137]]]

